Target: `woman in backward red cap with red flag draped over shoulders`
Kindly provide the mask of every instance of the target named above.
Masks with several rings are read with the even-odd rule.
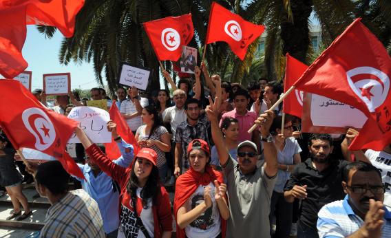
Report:
[[[190,169],[176,181],[176,237],[224,238],[229,208],[223,176],[209,165],[210,150],[204,140],[190,142],[187,154]]]

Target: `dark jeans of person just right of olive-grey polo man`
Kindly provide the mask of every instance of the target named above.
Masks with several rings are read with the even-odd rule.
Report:
[[[290,226],[292,226],[292,208],[292,204],[285,201],[284,193],[273,191],[269,215],[270,226],[272,226],[273,216],[275,215],[276,229],[273,237],[289,237]]]

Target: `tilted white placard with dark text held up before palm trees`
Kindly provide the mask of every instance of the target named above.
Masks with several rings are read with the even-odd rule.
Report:
[[[148,78],[151,72],[147,68],[138,68],[123,64],[119,83],[129,87],[137,87],[145,90],[148,86]]]

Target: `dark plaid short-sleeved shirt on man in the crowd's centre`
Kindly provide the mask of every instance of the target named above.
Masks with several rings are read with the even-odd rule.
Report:
[[[180,143],[182,147],[182,173],[189,170],[190,164],[187,159],[187,147],[190,142],[194,139],[202,139],[209,144],[211,147],[209,136],[211,135],[211,122],[209,122],[207,116],[202,114],[200,118],[198,118],[198,123],[194,126],[189,125],[187,120],[180,123],[180,125],[176,129],[175,142]],[[180,165],[179,165],[180,166]]]

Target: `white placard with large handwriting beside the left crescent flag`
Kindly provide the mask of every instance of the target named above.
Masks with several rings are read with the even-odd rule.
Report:
[[[110,120],[107,111],[98,107],[74,107],[68,118],[79,122],[79,127],[84,130],[92,142],[112,142],[112,133],[107,131],[107,122]],[[73,133],[68,143],[80,143],[80,140]]]

